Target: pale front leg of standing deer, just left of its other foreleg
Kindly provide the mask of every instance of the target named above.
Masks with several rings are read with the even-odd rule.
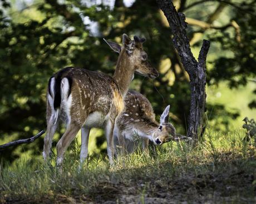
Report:
[[[88,156],[88,142],[89,142],[89,134],[90,127],[82,127],[81,128],[81,152],[80,152],[80,167],[83,167],[86,157]]]

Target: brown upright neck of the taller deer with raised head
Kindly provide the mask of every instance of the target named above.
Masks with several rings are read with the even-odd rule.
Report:
[[[129,60],[130,56],[125,49],[121,50],[120,56],[117,60],[115,74],[113,79],[116,81],[116,84],[119,86],[121,94],[125,97],[131,80],[134,78],[135,67]]]

